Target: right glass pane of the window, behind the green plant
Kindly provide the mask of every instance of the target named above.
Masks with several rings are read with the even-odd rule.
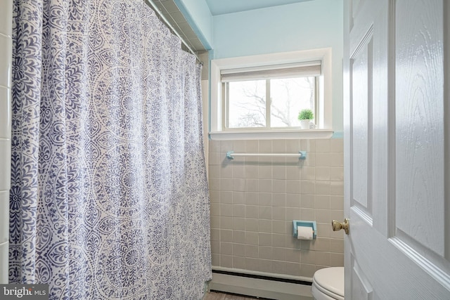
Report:
[[[300,126],[300,110],[315,112],[316,89],[314,77],[271,79],[271,127]]]

